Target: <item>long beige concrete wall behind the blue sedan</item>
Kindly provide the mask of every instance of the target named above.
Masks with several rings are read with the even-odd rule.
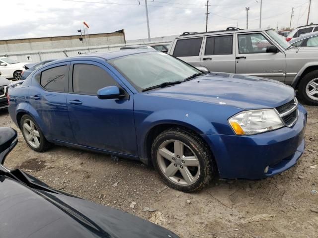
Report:
[[[86,37],[86,44],[79,41],[77,36],[42,37],[30,39],[0,40],[0,52],[27,52],[74,47],[104,46],[125,44],[124,32],[90,34]]]

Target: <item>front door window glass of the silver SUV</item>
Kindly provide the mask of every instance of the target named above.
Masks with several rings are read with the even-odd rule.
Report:
[[[239,54],[266,53],[271,44],[260,34],[239,35]]]

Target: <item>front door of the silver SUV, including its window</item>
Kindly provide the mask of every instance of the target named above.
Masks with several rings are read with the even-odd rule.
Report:
[[[266,53],[273,45],[261,33],[237,34],[236,73],[285,81],[286,57],[281,51]]]

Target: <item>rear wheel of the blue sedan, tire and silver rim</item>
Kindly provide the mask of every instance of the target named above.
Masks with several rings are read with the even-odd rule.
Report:
[[[50,147],[51,144],[44,137],[40,127],[29,115],[22,116],[20,120],[20,129],[26,144],[32,150],[44,152]]]

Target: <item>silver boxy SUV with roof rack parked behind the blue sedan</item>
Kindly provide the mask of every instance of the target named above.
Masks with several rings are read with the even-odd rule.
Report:
[[[185,32],[168,54],[199,69],[278,80],[298,89],[306,104],[318,105],[318,47],[291,46],[273,30]]]

